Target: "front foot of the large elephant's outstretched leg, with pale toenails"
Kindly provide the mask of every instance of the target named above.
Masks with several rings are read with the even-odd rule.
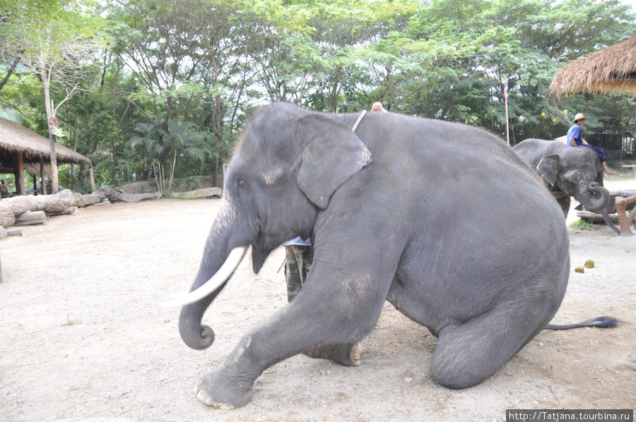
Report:
[[[245,406],[249,402],[253,382],[242,378],[229,381],[228,378],[220,369],[202,375],[194,387],[196,398],[221,410]]]

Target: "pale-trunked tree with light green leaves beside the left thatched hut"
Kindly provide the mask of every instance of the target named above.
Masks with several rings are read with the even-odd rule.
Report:
[[[42,83],[49,128],[52,190],[59,185],[55,135],[64,137],[58,127],[57,111],[78,90],[77,80],[92,63],[93,53],[102,38],[98,32],[98,15],[85,10],[94,6],[90,0],[76,1],[7,1],[1,9],[1,52],[5,61],[18,63],[13,69],[37,76]],[[57,85],[65,95],[55,104],[51,91]]]

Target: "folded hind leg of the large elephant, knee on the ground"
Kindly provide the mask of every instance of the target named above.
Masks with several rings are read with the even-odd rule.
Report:
[[[472,320],[440,330],[431,362],[431,373],[437,382],[455,389],[477,385],[541,330],[544,322],[524,321],[525,310],[508,305],[508,311],[500,305]],[[516,315],[510,315],[513,310]]]

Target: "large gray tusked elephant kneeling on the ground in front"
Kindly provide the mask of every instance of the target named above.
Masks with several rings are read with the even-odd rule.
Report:
[[[245,405],[254,380],[296,354],[358,365],[355,344],[385,299],[438,337],[437,382],[476,385],[546,327],[570,271],[562,212],[499,138],[401,114],[274,103],[248,123],[199,272],[176,299],[183,341],[212,344],[202,317],[249,246],[259,272],[295,236],[314,246],[307,281],[200,378],[206,404]]]

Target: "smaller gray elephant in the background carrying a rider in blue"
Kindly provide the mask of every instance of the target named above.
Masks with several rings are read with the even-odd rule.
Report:
[[[548,191],[567,217],[570,196],[584,207],[600,212],[614,231],[607,205],[611,196],[603,187],[603,167],[599,155],[590,148],[574,148],[558,140],[526,139],[512,147],[532,169],[543,176]]]

